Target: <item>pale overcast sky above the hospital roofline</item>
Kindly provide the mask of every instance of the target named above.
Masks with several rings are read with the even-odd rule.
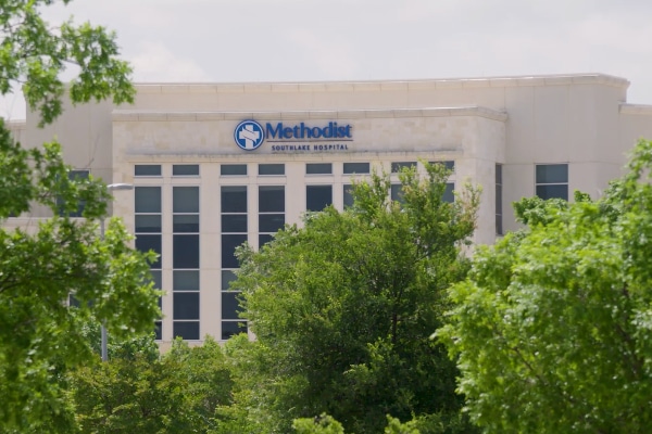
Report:
[[[652,104],[652,0],[75,0],[136,81],[316,81],[605,73]],[[24,117],[20,101],[4,113]]]

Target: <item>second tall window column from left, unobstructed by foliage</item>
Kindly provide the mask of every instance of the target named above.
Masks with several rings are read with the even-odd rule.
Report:
[[[173,334],[196,341],[199,331],[199,187],[172,188]]]

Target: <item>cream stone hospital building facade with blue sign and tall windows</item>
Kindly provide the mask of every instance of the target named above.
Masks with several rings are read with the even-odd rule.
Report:
[[[306,210],[343,208],[373,171],[398,183],[401,167],[441,162],[449,200],[481,186],[476,243],[516,229],[511,203],[523,196],[597,197],[637,139],[652,138],[652,106],[628,104],[628,85],[601,74],[145,84],[131,106],[68,106],[45,129],[28,113],[14,131],[29,146],[57,138],[79,175],[135,186],[114,192],[113,213],[161,255],[162,343],[225,340],[246,329],[228,290],[235,247],[259,248]]]

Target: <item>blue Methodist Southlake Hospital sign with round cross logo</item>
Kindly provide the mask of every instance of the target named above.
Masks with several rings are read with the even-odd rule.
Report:
[[[337,122],[326,125],[266,123],[263,128],[255,120],[242,120],[234,131],[234,139],[244,151],[259,149],[265,140],[272,143],[273,152],[348,151],[348,142],[353,141],[352,129],[352,125]]]

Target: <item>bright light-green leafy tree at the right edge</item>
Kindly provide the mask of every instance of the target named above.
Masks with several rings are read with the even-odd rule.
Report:
[[[603,199],[527,200],[524,231],[474,257],[439,339],[489,433],[652,426],[652,142]]]

